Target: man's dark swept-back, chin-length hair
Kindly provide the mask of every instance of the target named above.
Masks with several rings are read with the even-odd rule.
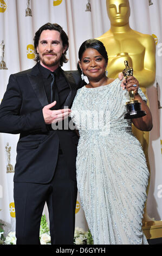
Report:
[[[35,54],[36,54],[35,61],[38,62],[40,60],[39,54],[37,52],[37,46],[38,46],[38,42],[40,40],[40,35],[41,35],[42,31],[47,30],[47,29],[58,31],[60,33],[62,45],[63,45],[63,47],[66,47],[66,51],[64,51],[64,53],[62,53],[62,56],[60,59],[60,66],[62,66],[63,63],[68,62],[66,53],[69,48],[69,40],[68,40],[67,34],[63,31],[62,27],[60,25],[58,25],[57,23],[51,24],[48,22],[48,23],[44,24],[40,29],[38,29],[38,31],[35,33],[35,36],[34,36],[34,49],[35,49]]]

